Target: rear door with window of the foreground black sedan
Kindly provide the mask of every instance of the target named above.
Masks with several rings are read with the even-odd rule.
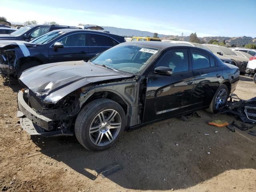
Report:
[[[218,68],[216,59],[205,52],[191,49],[191,58],[195,78],[193,100],[195,108],[201,108],[211,103],[222,81],[222,69]]]

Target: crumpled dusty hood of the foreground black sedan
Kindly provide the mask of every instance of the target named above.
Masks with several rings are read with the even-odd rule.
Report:
[[[59,62],[25,70],[20,81],[45,103],[56,104],[61,98],[86,85],[131,78],[84,61]]]

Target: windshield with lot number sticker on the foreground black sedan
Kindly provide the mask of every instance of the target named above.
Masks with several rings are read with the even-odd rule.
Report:
[[[109,66],[121,72],[140,74],[148,66],[150,58],[158,53],[156,48],[140,45],[115,46],[92,58],[93,64]]]

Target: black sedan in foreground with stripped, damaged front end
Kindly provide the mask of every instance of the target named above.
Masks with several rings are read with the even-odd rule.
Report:
[[[239,68],[205,49],[126,42],[88,62],[24,71],[18,116],[29,134],[75,134],[88,150],[105,150],[124,129],[201,108],[217,112],[238,80]]]

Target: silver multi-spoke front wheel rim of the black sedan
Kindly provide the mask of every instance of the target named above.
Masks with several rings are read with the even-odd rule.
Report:
[[[113,109],[107,109],[94,117],[90,125],[90,140],[96,146],[105,146],[113,142],[121,129],[120,114]]]

